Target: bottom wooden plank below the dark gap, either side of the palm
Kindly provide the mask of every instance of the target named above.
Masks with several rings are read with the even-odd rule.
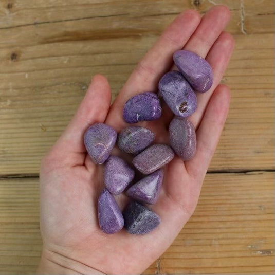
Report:
[[[144,274],[273,274],[274,173],[207,174],[198,206]],[[0,274],[35,272],[42,241],[37,178],[0,180]]]

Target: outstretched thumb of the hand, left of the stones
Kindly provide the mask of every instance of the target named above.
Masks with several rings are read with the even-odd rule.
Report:
[[[87,127],[96,122],[104,122],[111,104],[111,88],[108,80],[102,75],[96,75],[91,80],[86,95],[80,103],[75,116],[53,145],[50,153],[63,163],[76,165],[83,163],[86,149],[83,142]]]

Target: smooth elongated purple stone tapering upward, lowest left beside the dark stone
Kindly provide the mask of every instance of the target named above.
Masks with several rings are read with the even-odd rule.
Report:
[[[114,234],[122,229],[124,219],[116,200],[107,189],[98,198],[99,227],[107,234]]]

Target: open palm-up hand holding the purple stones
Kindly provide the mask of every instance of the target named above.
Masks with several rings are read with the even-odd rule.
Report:
[[[192,215],[210,160],[221,135],[230,101],[230,91],[219,85],[234,41],[223,29],[230,20],[224,6],[215,6],[200,19],[194,10],[176,17],[156,44],[138,63],[115,102],[109,108],[111,90],[97,75],[67,129],[43,158],[40,171],[43,274],[137,274],[144,271],[171,245]],[[145,235],[124,229],[107,235],[99,229],[97,199],[103,189],[102,166],[86,153],[83,135],[95,122],[120,131],[124,103],[141,91],[157,91],[157,83],[172,66],[173,53],[181,48],[206,57],[214,72],[214,83],[205,94],[197,94],[198,107],[189,117],[196,127],[195,157],[183,162],[175,157],[164,169],[160,197],[151,207],[161,217],[160,225]],[[173,115],[163,107],[161,119],[139,123],[156,134],[157,143],[167,143]],[[125,204],[120,195],[119,205]]]

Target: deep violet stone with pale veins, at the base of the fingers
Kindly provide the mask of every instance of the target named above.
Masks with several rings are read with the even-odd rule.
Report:
[[[161,116],[161,106],[155,93],[145,92],[130,98],[124,106],[123,118],[127,123],[155,120]]]

